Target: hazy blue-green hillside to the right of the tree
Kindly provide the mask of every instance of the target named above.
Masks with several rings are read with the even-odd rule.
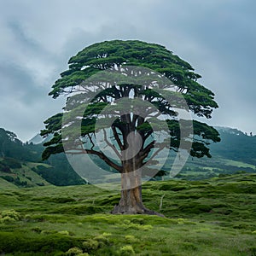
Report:
[[[220,143],[209,145],[212,158],[189,157],[176,178],[201,180],[209,177],[226,176],[239,172],[256,172],[256,136],[247,136],[242,131],[215,127],[221,137]],[[174,158],[166,161],[163,170],[169,170]]]

